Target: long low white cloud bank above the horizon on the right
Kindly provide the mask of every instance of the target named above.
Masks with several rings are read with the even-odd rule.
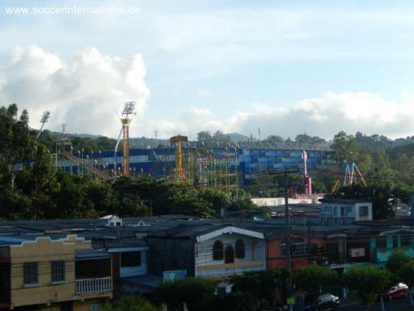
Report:
[[[209,109],[184,111],[180,120],[158,126],[160,137],[181,133],[195,138],[199,131],[244,133],[257,136],[260,127],[264,135],[277,134],[295,138],[299,133],[331,139],[339,131],[368,135],[378,133],[390,138],[413,135],[414,97],[405,91],[399,102],[384,99],[375,93],[332,93],[275,106],[252,104],[248,111],[238,111],[224,117]],[[164,122],[164,121],[163,121]]]

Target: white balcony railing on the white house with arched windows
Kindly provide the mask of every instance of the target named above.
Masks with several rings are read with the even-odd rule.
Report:
[[[246,263],[224,263],[223,265],[199,265],[195,276],[198,278],[224,279],[233,274],[244,272],[263,271],[266,269],[264,261],[248,261]]]

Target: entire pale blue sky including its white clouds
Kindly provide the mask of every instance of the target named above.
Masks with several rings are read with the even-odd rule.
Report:
[[[101,12],[56,13],[75,7]],[[109,137],[128,101],[132,137],[411,136],[413,14],[411,1],[3,0],[0,105]]]

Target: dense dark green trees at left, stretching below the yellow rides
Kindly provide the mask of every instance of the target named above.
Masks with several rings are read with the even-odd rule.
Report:
[[[221,207],[257,209],[239,191],[230,198],[218,189],[195,189],[184,182],[152,178],[117,178],[97,182],[57,169],[50,133],[35,139],[28,113],[16,104],[0,109],[0,219],[96,218],[107,214],[150,216],[184,214],[213,218]],[[45,144],[43,144],[44,142]],[[108,138],[79,138],[74,149],[112,149]],[[110,147],[110,148],[109,148]]]

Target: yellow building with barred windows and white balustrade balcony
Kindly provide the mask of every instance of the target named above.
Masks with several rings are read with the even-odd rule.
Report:
[[[110,254],[68,235],[0,244],[0,308],[97,311],[112,298]]]

